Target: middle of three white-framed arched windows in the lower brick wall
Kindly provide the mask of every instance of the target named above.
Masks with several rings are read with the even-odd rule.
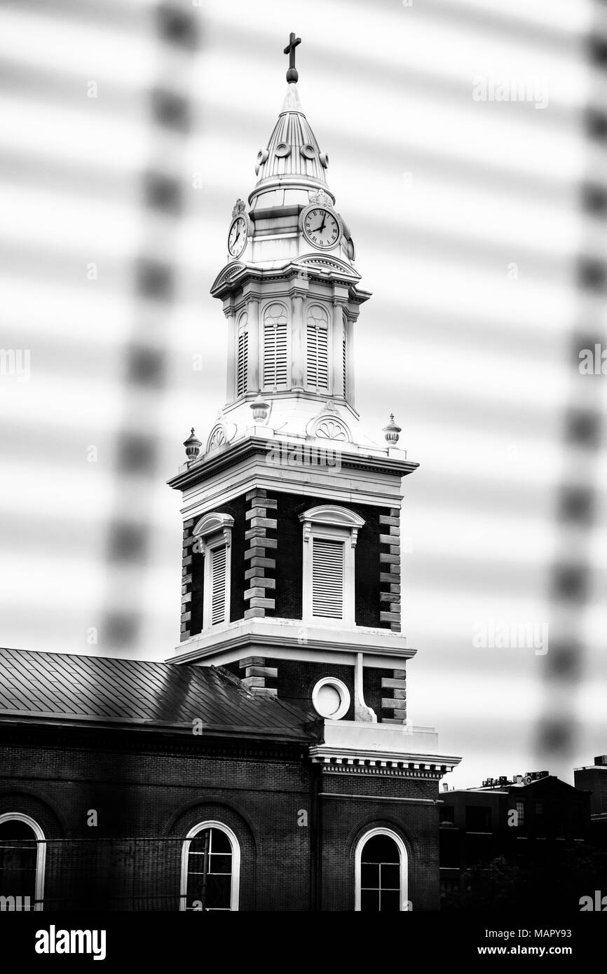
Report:
[[[180,910],[238,910],[241,847],[227,825],[191,829],[181,857]]]

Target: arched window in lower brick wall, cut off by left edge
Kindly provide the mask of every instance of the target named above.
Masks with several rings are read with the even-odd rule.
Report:
[[[0,815],[0,909],[42,910],[44,833],[29,815]]]

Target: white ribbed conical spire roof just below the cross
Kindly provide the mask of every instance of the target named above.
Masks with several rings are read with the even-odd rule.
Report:
[[[304,149],[304,153],[302,153]],[[279,120],[270,135],[268,157],[259,166],[257,186],[267,179],[281,176],[305,176],[326,186],[321,149],[316,135],[304,115],[297,86],[288,86]]]

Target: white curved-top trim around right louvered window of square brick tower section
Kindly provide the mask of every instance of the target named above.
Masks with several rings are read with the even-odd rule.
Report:
[[[346,507],[320,505],[299,515],[303,524],[303,619],[310,623],[322,620],[326,625],[340,627],[344,622],[355,625],[355,548],[364,521]],[[313,543],[315,538],[339,541],[344,545],[344,599],[342,618],[313,616]],[[311,543],[312,542],[312,543]]]

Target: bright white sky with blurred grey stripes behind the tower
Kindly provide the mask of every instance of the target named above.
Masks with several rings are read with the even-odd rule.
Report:
[[[282,105],[294,30],[303,108],[373,292],[357,324],[357,406],[376,438],[394,412],[421,464],[403,481],[410,716],[464,756],[451,784],[544,768],[533,729],[555,638],[556,493],[575,468],[562,435],[577,394],[576,266],[588,240],[603,256],[605,243],[579,203],[581,182],[605,171],[583,128],[591,5],[184,6],[198,24],[186,51],[163,40],[149,0],[21,0],[0,14],[0,341],[30,354],[27,376],[0,381],[0,641],[111,655],[116,604],[136,617],[131,655],[167,658],[178,642],[179,496],[165,481],[190,427],[204,440],[225,401],[209,287]],[[169,133],[150,108],[167,88],[190,115]],[[153,169],[178,177],[176,215],[146,206]],[[156,306],[134,287],[142,257],[171,266]],[[133,347],[155,352],[158,381],[133,383]],[[591,381],[604,415],[607,378]],[[126,477],[137,437],[156,452]],[[606,468],[603,435],[571,779],[607,751]],[[145,559],[117,567],[108,532],[130,519]],[[548,654],[474,646],[487,624],[550,621]]]

